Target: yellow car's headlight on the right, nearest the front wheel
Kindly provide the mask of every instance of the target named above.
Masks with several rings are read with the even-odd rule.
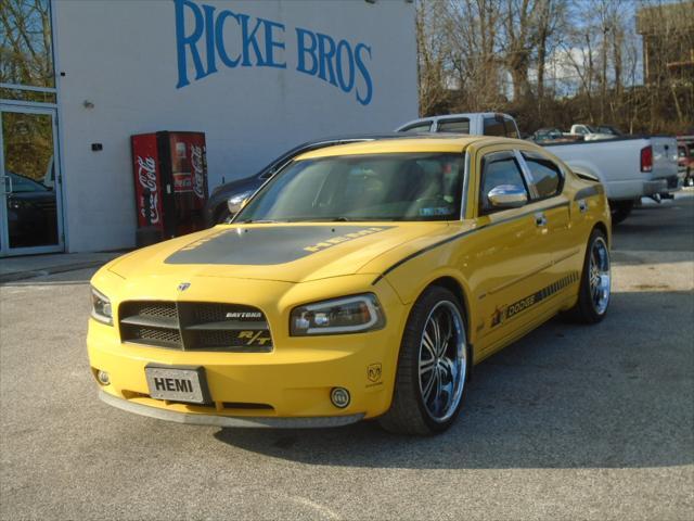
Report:
[[[290,318],[290,334],[346,334],[373,331],[385,326],[376,295],[345,296],[296,307]]]

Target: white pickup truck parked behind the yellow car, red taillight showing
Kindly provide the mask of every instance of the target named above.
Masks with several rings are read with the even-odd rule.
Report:
[[[425,117],[409,122],[396,131],[519,137],[513,117],[497,113]],[[613,223],[626,219],[642,196],[657,196],[680,188],[676,138],[622,136],[543,147],[573,170],[600,179],[609,200]]]

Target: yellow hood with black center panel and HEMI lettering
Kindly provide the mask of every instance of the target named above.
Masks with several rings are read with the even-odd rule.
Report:
[[[107,268],[126,279],[182,275],[305,282],[380,274],[447,230],[447,223],[222,225],[132,252]]]

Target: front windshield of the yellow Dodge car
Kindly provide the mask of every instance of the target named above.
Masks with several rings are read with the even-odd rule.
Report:
[[[234,223],[460,218],[461,153],[394,153],[290,164]]]

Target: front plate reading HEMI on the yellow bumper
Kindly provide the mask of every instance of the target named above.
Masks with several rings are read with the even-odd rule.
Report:
[[[146,366],[144,374],[153,398],[191,404],[210,402],[203,367]]]

